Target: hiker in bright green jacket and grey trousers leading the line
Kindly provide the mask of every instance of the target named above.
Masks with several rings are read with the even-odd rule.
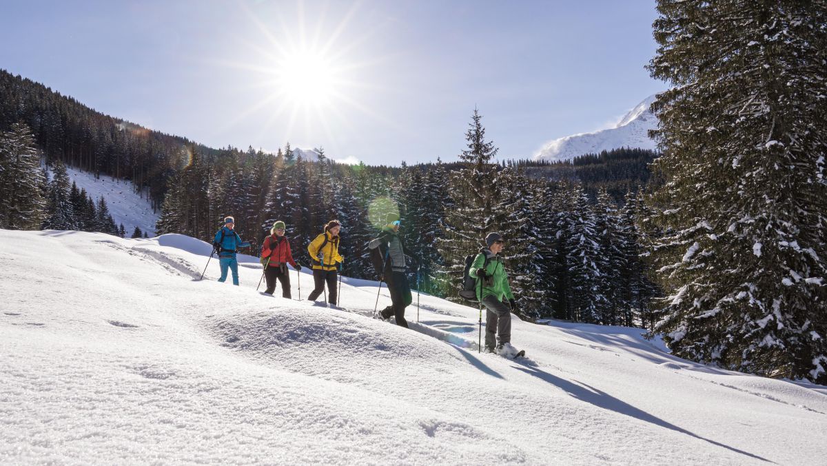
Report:
[[[511,293],[509,276],[500,257],[505,242],[500,233],[488,233],[485,244],[488,247],[480,249],[468,271],[471,278],[477,279],[476,298],[487,310],[485,350],[489,353],[503,353],[504,349],[511,352],[511,311],[517,310],[517,302]]]

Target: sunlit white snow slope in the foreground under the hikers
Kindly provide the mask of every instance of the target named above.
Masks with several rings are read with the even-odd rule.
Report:
[[[0,230],[0,463],[827,458],[825,387],[689,363],[621,327],[514,319],[530,359],[480,354],[475,308],[422,295],[416,324],[414,296],[402,329],[370,319],[375,282],[345,278],[349,311],[328,309],[256,293],[255,257],[241,286],[214,259],[198,281],[209,252]]]

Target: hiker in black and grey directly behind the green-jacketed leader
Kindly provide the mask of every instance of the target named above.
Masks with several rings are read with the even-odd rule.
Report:
[[[392,303],[380,312],[380,316],[383,320],[386,320],[394,315],[396,324],[407,329],[408,321],[405,320],[405,308],[411,304],[413,298],[408,277],[405,276],[405,272],[408,270],[405,256],[411,257],[411,261],[415,264],[414,269],[419,268],[419,260],[413,252],[405,247],[402,238],[399,238],[399,227],[401,225],[399,215],[387,214],[385,223],[379,238],[375,238],[368,243],[371,261],[379,272],[380,280],[387,282],[388,291],[390,291],[390,302]]]

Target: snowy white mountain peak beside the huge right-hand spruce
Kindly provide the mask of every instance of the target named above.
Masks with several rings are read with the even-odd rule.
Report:
[[[655,95],[650,95],[635,108],[629,110],[629,113],[615,127],[574,134],[547,142],[534,155],[534,158],[566,161],[583,154],[596,154],[621,147],[653,150],[655,142],[648,137],[648,131],[657,128],[657,117],[649,111],[649,106],[654,101]]]

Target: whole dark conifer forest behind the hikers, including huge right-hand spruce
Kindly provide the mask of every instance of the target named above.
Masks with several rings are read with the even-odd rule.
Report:
[[[414,289],[460,300],[464,258],[499,232],[523,318],[638,326],[682,358],[825,383],[827,12],[657,3],[648,70],[671,86],[653,105],[657,153],[500,161],[476,109],[450,163],[214,149],[0,71],[0,228],[127,235],[69,165],[131,180],[160,209],[158,233],[210,243],[233,215],[252,255],[283,220],[308,265],[338,219],[342,273],[375,279],[366,244],[394,211],[423,266]]]

